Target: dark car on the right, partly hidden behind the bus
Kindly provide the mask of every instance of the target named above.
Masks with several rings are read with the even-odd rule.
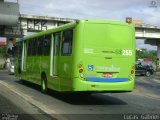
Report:
[[[151,65],[136,64],[136,75],[153,75],[154,69]]]

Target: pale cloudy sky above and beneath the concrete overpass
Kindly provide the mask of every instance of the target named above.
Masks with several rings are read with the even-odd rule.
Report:
[[[16,0],[5,0],[16,1]],[[18,0],[21,14],[74,19],[109,19],[126,17],[144,24],[160,26],[160,0]],[[154,49],[137,40],[137,47]]]

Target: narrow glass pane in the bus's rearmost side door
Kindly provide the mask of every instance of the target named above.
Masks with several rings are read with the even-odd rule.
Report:
[[[54,56],[59,55],[60,50],[60,39],[61,39],[61,32],[55,33],[54,35]]]

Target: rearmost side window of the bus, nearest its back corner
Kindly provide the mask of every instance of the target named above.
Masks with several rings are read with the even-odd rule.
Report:
[[[62,37],[62,55],[71,55],[72,53],[73,30],[63,31]]]

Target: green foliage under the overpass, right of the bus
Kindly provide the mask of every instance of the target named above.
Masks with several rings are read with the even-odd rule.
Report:
[[[143,59],[143,58],[151,58],[154,62],[157,59],[157,51],[154,50],[136,50],[136,60]]]

